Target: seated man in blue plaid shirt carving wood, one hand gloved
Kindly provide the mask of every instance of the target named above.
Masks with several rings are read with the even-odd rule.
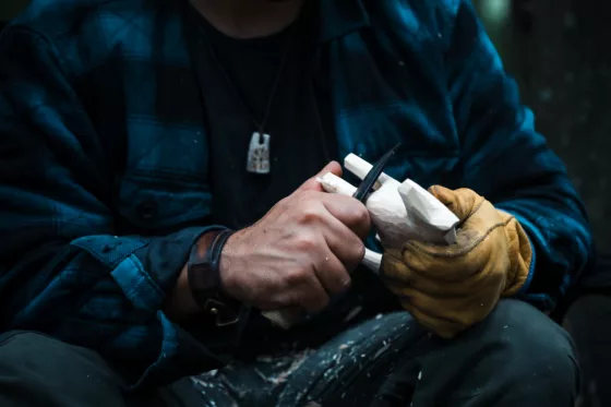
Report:
[[[574,403],[586,216],[467,0],[39,0],[0,60],[2,406]],[[462,223],[379,278],[315,177],[397,142]]]

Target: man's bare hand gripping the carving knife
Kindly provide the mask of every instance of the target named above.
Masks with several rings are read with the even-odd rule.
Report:
[[[342,175],[337,163],[326,172]],[[316,177],[319,177],[316,176]],[[350,196],[323,192],[316,177],[227,241],[220,261],[225,291],[262,310],[324,309],[348,288],[364,255],[369,212]]]

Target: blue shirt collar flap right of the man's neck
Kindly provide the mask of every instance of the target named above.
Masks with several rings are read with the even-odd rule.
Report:
[[[362,0],[318,1],[320,4],[319,40],[322,43],[342,37],[370,24]]]

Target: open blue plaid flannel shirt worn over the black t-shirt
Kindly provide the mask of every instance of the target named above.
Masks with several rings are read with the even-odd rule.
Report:
[[[514,214],[536,252],[522,296],[553,307],[591,258],[586,215],[470,2],[316,1],[339,157],[400,141],[391,176]],[[34,0],[0,37],[0,328],[128,362],[134,386],[218,368],[239,335],[163,312],[214,227],[181,3]]]

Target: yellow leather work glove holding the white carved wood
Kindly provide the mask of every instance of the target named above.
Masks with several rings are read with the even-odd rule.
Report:
[[[469,189],[429,189],[459,219],[454,244],[408,241],[387,250],[382,278],[411,315],[451,338],[482,321],[528,278],[532,249],[512,215]]]

